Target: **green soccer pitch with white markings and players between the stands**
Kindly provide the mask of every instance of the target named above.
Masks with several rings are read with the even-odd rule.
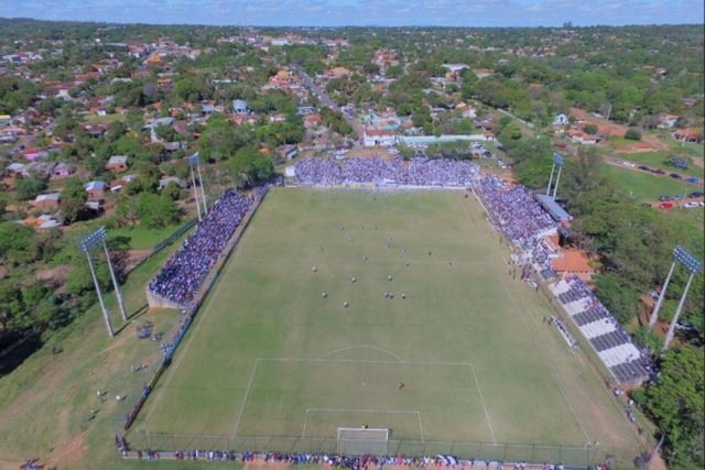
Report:
[[[508,254],[463,193],[273,189],[129,437],[368,425],[630,462],[636,430]]]

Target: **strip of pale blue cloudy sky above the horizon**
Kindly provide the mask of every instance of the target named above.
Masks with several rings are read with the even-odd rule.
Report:
[[[254,26],[702,24],[703,0],[0,0],[0,17]]]

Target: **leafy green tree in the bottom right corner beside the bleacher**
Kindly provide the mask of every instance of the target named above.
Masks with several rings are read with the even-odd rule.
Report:
[[[703,468],[704,378],[702,349],[671,349],[661,361],[658,384],[646,393],[646,411],[665,437],[671,468]]]

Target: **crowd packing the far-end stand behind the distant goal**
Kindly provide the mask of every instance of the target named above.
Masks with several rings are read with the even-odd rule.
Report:
[[[415,157],[303,159],[295,164],[296,181],[304,185],[372,183],[404,186],[469,186],[479,167],[460,160]]]

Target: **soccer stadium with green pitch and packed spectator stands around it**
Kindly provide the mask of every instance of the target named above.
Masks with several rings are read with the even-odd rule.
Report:
[[[556,227],[529,192],[443,161],[302,161],[295,183],[224,196],[150,284],[198,314],[130,416],[132,447],[568,466],[639,452],[599,348],[543,288],[538,240]],[[210,258],[188,258],[198,243]]]

